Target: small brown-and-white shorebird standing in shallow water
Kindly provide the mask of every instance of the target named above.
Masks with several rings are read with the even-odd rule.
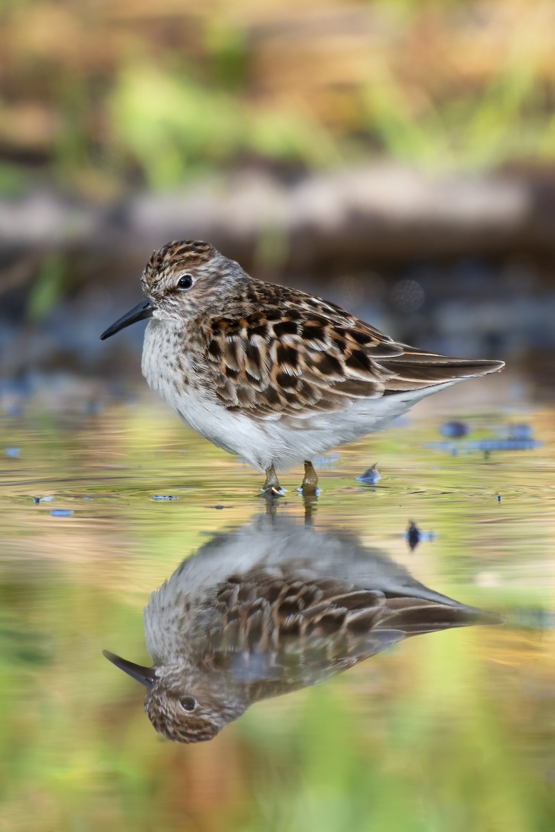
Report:
[[[155,251],[145,300],[102,333],[150,318],[142,373],[202,436],[265,472],[305,462],[372,433],[425,396],[503,368],[399,344],[339,306],[247,275],[211,245]]]

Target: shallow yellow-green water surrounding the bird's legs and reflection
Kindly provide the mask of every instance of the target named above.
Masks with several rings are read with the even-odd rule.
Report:
[[[102,649],[149,663],[149,594],[265,513],[259,475],[147,394],[4,416],[0,829],[553,830],[555,411],[438,400],[320,461],[310,522],[506,624],[404,641],[200,745],[156,735],[145,689]],[[471,433],[430,448],[453,418]],[[543,447],[467,453],[517,423]],[[300,474],[275,511],[302,528]],[[412,551],[409,521],[426,532]]]

